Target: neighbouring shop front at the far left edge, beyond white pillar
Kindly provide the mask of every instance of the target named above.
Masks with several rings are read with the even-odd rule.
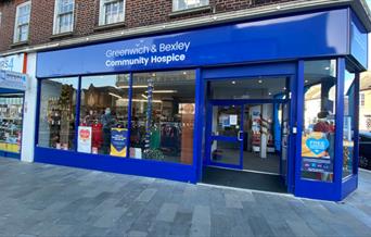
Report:
[[[0,155],[21,159],[24,95],[24,54],[0,58]]]

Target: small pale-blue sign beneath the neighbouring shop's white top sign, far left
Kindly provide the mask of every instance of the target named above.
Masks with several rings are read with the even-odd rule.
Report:
[[[27,90],[28,76],[26,74],[0,71],[0,88]]]

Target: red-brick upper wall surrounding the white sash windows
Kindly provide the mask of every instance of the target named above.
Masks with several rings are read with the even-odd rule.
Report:
[[[0,52],[15,47],[13,46],[13,32],[16,5],[26,0],[0,0],[2,23],[0,26]],[[215,7],[216,13],[254,8],[278,2],[295,0],[209,0]],[[213,11],[190,13],[188,15],[170,16],[171,0],[127,0],[125,25],[118,28],[99,29],[99,0],[75,0],[75,30],[73,35],[64,38],[88,36],[91,34],[117,30],[119,28],[132,28],[151,24],[158,24],[183,18],[213,14]],[[31,22],[29,26],[29,45],[38,45],[57,41],[62,38],[52,37],[54,16],[54,0],[33,0]]]

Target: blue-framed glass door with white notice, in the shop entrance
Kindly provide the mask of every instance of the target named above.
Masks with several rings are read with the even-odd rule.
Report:
[[[218,104],[210,107],[209,164],[242,169],[243,105]]]

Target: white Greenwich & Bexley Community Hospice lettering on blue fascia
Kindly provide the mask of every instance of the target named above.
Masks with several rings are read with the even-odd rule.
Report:
[[[136,47],[106,50],[105,65],[131,66],[149,64],[170,64],[171,62],[184,61],[191,47],[189,41],[176,41],[172,43],[136,45]]]

